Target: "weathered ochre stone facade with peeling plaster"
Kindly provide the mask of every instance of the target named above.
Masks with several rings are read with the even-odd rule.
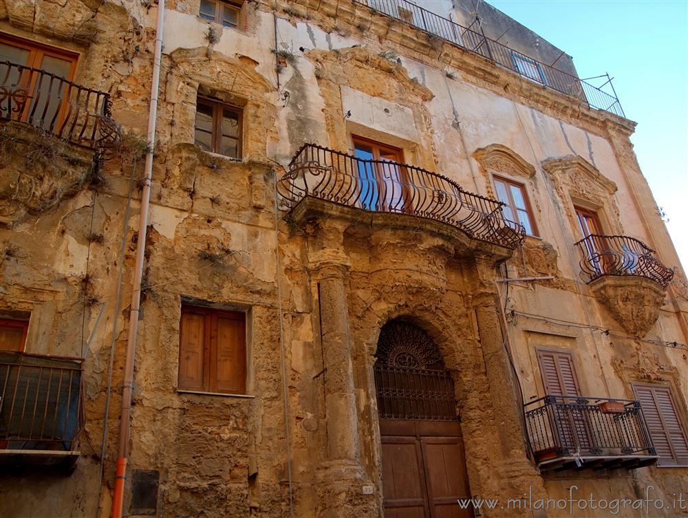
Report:
[[[584,396],[671,387],[688,424],[685,290],[633,275],[588,284],[574,246],[584,204],[609,234],[679,265],[630,144],[634,122],[350,0],[247,1],[238,28],[199,9],[166,4],[125,510],[131,472],[154,470],[161,517],[381,517],[373,367],[396,318],[427,332],[451,373],[471,495],[685,493],[686,467],[540,470],[524,429],[524,403],[546,396],[542,347],[572,354]],[[1,0],[0,30],[78,53],[74,81],[109,93],[123,134],[144,138],[156,11]],[[241,108],[241,159],[193,143],[197,94]],[[3,471],[0,514],[107,517],[143,159],[113,149],[97,166],[83,147],[1,124],[0,318],[28,319],[26,353],[85,358],[85,428],[69,475]],[[307,142],[349,153],[352,135],[483,196],[497,195],[495,175],[523,184],[538,235],[510,250],[432,217],[317,197],[289,210],[277,182],[292,155]],[[538,279],[506,290],[507,276]],[[246,394],[178,390],[185,303],[245,312]]]

